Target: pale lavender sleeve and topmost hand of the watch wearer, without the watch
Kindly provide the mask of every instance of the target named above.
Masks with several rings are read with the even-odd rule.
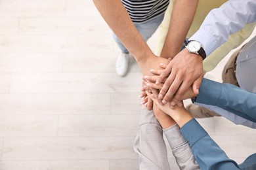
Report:
[[[209,12],[200,30],[190,39],[201,42],[209,55],[226,41],[228,34],[238,31],[246,23],[255,22],[255,5],[255,1],[250,0],[227,1],[219,9]],[[171,105],[176,105],[190,85],[198,93],[203,78],[202,59],[184,49],[173,58],[156,83],[160,84],[167,76],[159,98],[163,103],[171,101]]]

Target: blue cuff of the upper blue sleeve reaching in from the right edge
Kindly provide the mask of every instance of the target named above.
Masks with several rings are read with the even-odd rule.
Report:
[[[217,106],[219,98],[221,97],[221,90],[221,83],[203,78],[195,102]]]

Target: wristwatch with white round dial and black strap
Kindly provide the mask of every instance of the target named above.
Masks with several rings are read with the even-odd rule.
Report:
[[[196,40],[190,40],[186,43],[186,49],[188,52],[199,54],[203,59],[206,58],[205,51],[203,50],[202,44]]]

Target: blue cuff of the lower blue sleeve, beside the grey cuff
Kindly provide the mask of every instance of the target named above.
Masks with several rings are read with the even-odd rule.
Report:
[[[190,148],[194,146],[200,139],[208,135],[200,124],[195,119],[188,121],[181,127],[181,133],[186,141],[188,141]]]

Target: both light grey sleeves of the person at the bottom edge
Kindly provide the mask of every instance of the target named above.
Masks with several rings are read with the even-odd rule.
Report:
[[[188,142],[181,135],[179,126],[175,124],[163,131],[154,112],[144,108],[141,111],[140,127],[134,144],[134,150],[139,155],[140,170],[170,169],[163,132],[180,169],[200,169]]]

